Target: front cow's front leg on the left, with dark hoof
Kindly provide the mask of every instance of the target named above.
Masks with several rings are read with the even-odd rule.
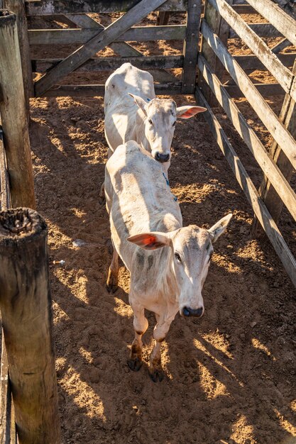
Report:
[[[131,344],[131,355],[128,359],[128,367],[133,370],[133,372],[138,372],[142,365],[142,335],[148,328],[148,321],[145,317],[143,306],[131,303],[131,308],[133,309],[133,328],[135,329],[135,338]]]

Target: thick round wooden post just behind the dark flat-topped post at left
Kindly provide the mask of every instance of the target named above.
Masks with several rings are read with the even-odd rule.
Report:
[[[33,170],[26,116],[16,15],[0,10],[0,116],[13,207],[35,209]]]

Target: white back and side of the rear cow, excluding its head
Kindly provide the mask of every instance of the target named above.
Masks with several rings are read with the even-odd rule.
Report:
[[[107,79],[104,96],[105,135],[114,151],[127,140],[135,140],[138,106],[128,93],[143,99],[154,99],[153,77],[138,70],[131,63],[124,63]]]

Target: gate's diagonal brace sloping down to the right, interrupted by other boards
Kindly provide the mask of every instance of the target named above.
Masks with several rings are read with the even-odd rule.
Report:
[[[81,28],[100,28],[104,29],[100,23],[98,23],[94,18],[87,16],[86,14],[70,14],[67,16],[72,23],[80,26]],[[114,50],[121,57],[141,57],[142,53],[128,43],[119,42],[119,43],[110,43],[109,47]],[[176,82],[177,79],[174,75],[170,74],[170,72],[165,70],[153,70],[153,78],[156,82]]]

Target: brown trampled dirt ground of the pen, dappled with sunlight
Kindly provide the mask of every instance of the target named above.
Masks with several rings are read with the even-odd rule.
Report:
[[[260,184],[250,152],[217,112]],[[33,99],[30,133],[50,262],[65,260],[50,265],[63,443],[295,444],[295,288],[270,243],[252,239],[251,207],[202,115],[177,123],[172,192],[185,225],[209,228],[230,211],[234,218],[214,245],[204,316],[177,314],[163,343],[165,380],[157,384],[146,365],[136,373],[126,365],[133,340],[127,270],[121,267],[116,294],[105,289],[111,256],[109,221],[98,201],[107,150],[102,97]],[[286,213],[282,226],[295,250]],[[148,320],[146,363],[153,313]]]

